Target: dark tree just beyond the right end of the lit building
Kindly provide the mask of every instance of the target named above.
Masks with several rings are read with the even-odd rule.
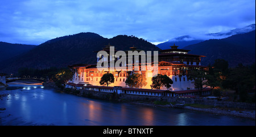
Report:
[[[207,87],[207,80],[205,78],[207,77],[207,74],[205,71],[200,70],[193,70],[189,72],[189,79],[194,80],[193,83],[195,85],[195,88],[199,90],[199,95],[202,95],[203,89]],[[206,85],[204,87],[204,85]]]

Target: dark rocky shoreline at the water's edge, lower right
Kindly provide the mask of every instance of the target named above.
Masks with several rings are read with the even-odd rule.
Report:
[[[174,108],[171,105],[155,105],[150,102],[129,102],[130,104],[136,104],[136,105],[145,105],[145,106],[151,106],[151,107],[161,107],[161,108]],[[207,113],[213,113],[218,115],[232,115],[234,117],[242,117],[242,118],[249,118],[255,120],[255,110],[229,110],[229,109],[217,109],[217,108],[196,108],[192,106],[184,106],[181,109],[189,109],[189,110],[196,110],[200,112],[207,112]]]

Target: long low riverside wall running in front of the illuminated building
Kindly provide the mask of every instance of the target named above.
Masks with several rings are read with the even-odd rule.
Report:
[[[188,98],[179,98],[179,97],[158,97],[158,96],[144,96],[144,95],[129,95],[129,94],[117,94],[117,93],[108,93],[108,92],[98,92],[98,91],[87,91],[85,89],[80,91],[81,96],[92,97],[96,99],[104,100],[118,100],[118,101],[168,101],[176,102],[177,104],[202,104],[202,105],[211,105],[218,106],[221,108],[240,108],[240,109],[249,109],[255,110],[255,104],[246,103],[246,102],[231,102],[231,101],[218,101],[218,100],[209,100],[209,99],[188,99]]]

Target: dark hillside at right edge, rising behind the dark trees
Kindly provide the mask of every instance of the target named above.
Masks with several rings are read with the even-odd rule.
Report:
[[[218,58],[228,61],[230,67],[238,63],[250,65],[255,62],[255,31],[220,40],[206,40],[183,49],[191,50],[191,54],[206,55],[201,59],[201,65],[213,64]]]

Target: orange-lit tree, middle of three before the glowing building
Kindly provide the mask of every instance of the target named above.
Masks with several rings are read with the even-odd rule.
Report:
[[[125,84],[131,88],[142,88],[147,85],[146,77],[142,74],[134,73],[125,80]]]

